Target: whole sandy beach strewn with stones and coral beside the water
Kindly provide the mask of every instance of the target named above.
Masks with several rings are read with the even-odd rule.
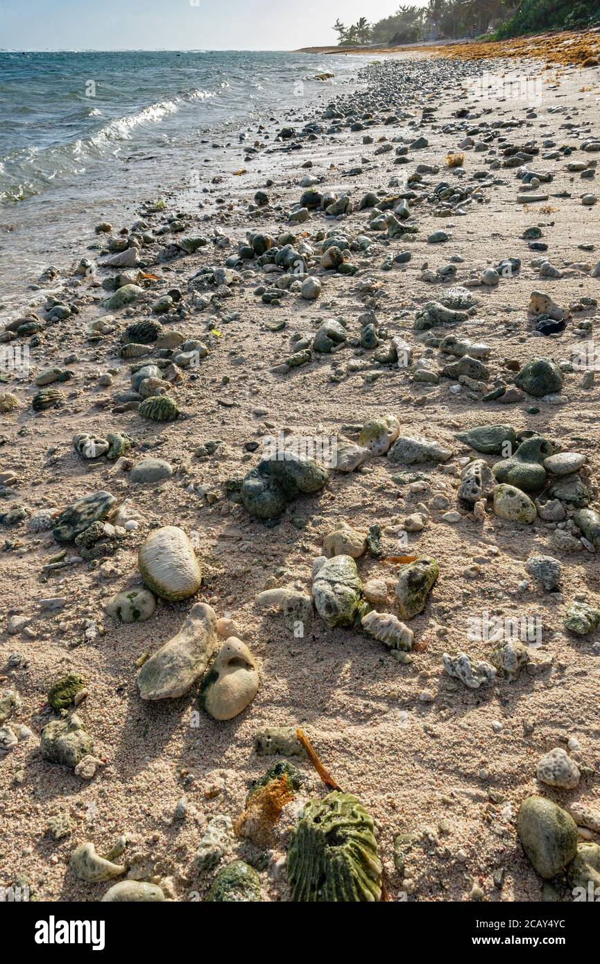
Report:
[[[598,72],[539,67],[370,64],[25,293],[0,887],[600,886]]]

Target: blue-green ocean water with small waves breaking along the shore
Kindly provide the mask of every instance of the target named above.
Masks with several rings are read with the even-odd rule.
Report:
[[[0,302],[97,220],[209,182],[252,124],[327,102],[360,57],[251,51],[0,52]],[[332,72],[323,83],[315,74]],[[248,133],[248,142],[255,137]],[[233,159],[233,158],[232,158]]]

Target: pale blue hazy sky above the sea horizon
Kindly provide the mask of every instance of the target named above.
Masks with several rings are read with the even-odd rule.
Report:
[[[404,0],[407,2],[407,0]],[[421,7],[426,0],[412,0]],[[197,6],[195,5],[197,4]],[[337,42],[352,23],[394,13],[398,0],[0,0],[9,50],[292,50]]]

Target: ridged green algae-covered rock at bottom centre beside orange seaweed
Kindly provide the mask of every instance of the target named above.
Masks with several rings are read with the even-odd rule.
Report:
[[[373,818],[355,796],[334,790],[307,803],[287,851],[287,880],[296,901],[381,898]]]

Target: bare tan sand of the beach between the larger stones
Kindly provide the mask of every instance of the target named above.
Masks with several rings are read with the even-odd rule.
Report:
[[[544,83],[530,72],[537,65],[507,57],[470,65],[402,54],[407,67],[401,70],[397,58],[386,58],[366,67],[366,90],[332,94],[334,117],[323,118],[316,104],[299,105],[296,117],[273,121],[270,132],[291,126],[289,137],[261,142],[261,132],[253,129],[249,145],[256,138],[265,147],[247,154],[239,168],[233,164],[239,148],[232,147],[230,171],[219,157],[211,174],[222,180],[208,187],[203,210],[192,214],[192,203],[187,209],[181,196],[167,192],[165,208],[153,213],[132,199],[128,217],[94,235],[95,249],[72,250],[73,272],[48,284],[47,293],[75,311],[46,323],[41,294],[32,293],[28,300],[40,330],[0,344],[27,345],[31,362],[29,380],[11,377],[0,386],[17,400],[14,411],[2,415],[0,469],[9,473],[2,509],[22,506],[24,512],[2,528],[7,566],[0,592],[10,602],[0,636],[0,663],[6,667],[0,669],[6,677],[0,697],[14,689],[20,707],[8,719],[18,738],[0,769],[4,827],[13,843],[0,885],[24,877],[40,899],[99,900],[114,881],[78,879],[69,869],[71,854],[86,842],[105,854],[126,834],[123,860],[129,870],[117,880],[128,875],[151,882],[167,899],[205,897],[215,870],[199,871],[195,860],[210,820],[227,816],[235,823],[251,781],[278,759],[255,752],[257,734],[267,727],[299,726],[327,769],[376,820],[393,900],[534,901],[549,888],[564,898],[562,883],[544,885],[533,870],[515,817],[531,793],[541,792],[560,806],[600,807],[598,633],[576,636],[563,627],[565,610],[578,596],[600,606],[597,556],[577,535],[568,504],[563,525],[541,517],[532,525],[510,522],[490,506],[477,519],[460,508],[460,475],[470,458],[480,456],[455,436],[475,426],[510,423],[517,432],[539,432],[559,448],[584,452],[584,478],[597,509],[597,386],[585,388],[581,373],[566,370],[557,402],[519,393],[513,379],[525,361],[542,355],[559,362],[573,343],[586,343],[574,329],[585,332],[587,324],[588,337],[596,336],[599,281],[576,265],[594,264],[600,256],[594,241],[598,208],[581,203],[584,193],[597,191],[597,180],[582,180],[568,164],[598,155],[573,149],[545,160],[553,148],[543,143],[580,147],[586,131],[600,134],[600,110],[593,92],[582,90],[589,87],[589,70],[565,69]],[[499,80],[491,93],[481,82],[490,75]],[[506,97],[513,75],[515,83],[521,79],[522,99]],[[524,81],[531,76],[530,89]],[[473,87],[463,86],[470,78]],[[467,115],[457,117],[461,109]],[[362,126],[344,127],[352,118]],[[532,189],[547,193],[547,201],[518,202],[521,181],[516,167],[505,164],[509,155],[502,152],[501,136],[520,148],[534,142],[536,152],[523,164],[553,174],[551,182]],[[474,143],[461,147],[469,137]],[[402,147],[406,152],[396,153]],[[446,166],[451,153],[464,154],[464,174]],[[409,183],[420,166],[421,180]],[[247,174],[233,174],[242,168]],[[297,215],[310,189],[301,186],[307,177],[316,178],[317,190],[347,196],[348,203],[341,203],[337,214],[316,207]],[[440,181],[447,181],[456,197],[466,187],[476,193],[451,201],[450,213],[443,215],[444,204],[434,194]],[[265,203],[255,200],[257,191],[267,195]],[[416,233],[390,236],[385,205],[386,223],[369,228],[373,210],[359,205],[373,192],[379,201],[395,196],[395,203],[406,195],[406,224]],[[133,227],[140,219],[146,228]],[[540,277],[533,263],[541,254],[523,233],[538,225],[548,244],[544,256],[559,277]],[[347,235],[345,263],[356,269],[354,275],[323,266],[322,241],[333,230]],[[304,274],[298,281],[293,271],[261,264],[258,257],[228,265],[249,231],[276,241],[291,232],[307,277],[320,284],[317,297],[303,297]],[[428,240],[440,231],[446,240]],[[142,266],[103,268],[109,239],[119,247],[132,235],[141,238]],[[177,249],[181,238],[201,235],[206,244],[192,254]],[[364,237],[368,244],[357,240]],[[586,244],[593,250],[582,251]],[[402,252],[410,257],[395,260]],[[521,259],[513,276],[465,286],[510,257]],[[86,265],[78,269],[81,258],[92,262],[91,274]],[[141,293],[128,307],[101,307],[110,297],[102,281],[123,271],[133,272]],[[467,309],[451,327],[416,328],[419,312],[456,286],[461,297],[473,295],[475,310]],[[532,334],[528,305],[535,289],[548,291],[561,308],[580,305],[564,333]],[[170,291],[167,309],[153,309]],[[267,291],[279,291],[280,304],[267,304],[262,297]],[[410,346],[413,365],[375,360],[373,349],[361,342],[365,326],[359,319],[368,312],[375,318],[378,348],[399,338]],[[20,316],[33,318],[26,308]],[[344,325],[341,335],[338,326],[341,347],[318,352],[314,337],[330,318],[342,318],[347,335]],[[123,357],[123,333],[141,321],[206,349],[205,357],[202,349],[190,349],[201,352],[198,364],[188,359],[177,366],[168,393],[181,414],[172,422],[149,421],[138,412],[139,399],[125,400],[132,365],[164,362],[164,373],[177,356],[178,344],[148,343],[147,354]],[[489,348],[487,374],[478,371],[470,381],[463,375],[462,382],[441,375],[447,363],[458,361],[439,348],[446,335],[483,342]],[[286,364],[307,349],[309,361]],[[437,380],[416,379],[414,365]],[[34,379],[53,366],[72,377],[51,383],[63,398],[36,413],[32,400],[40,387]],[[509,398],[483,400],[499,386]],[[256,466],[265,440],[286,432],[356,443],[358,427],[388,413],[398,418],[400,435],[437,442],[450,449],[449,458],[394,465],[373,456],[355,471],[333,470],[322,491],[300,495],[276,523],[259,522],[232,499],[234,481]],[[73,448],[76,434],[103,439],[110,432],[125,432],[135,442],[117,462],[104,455],[82,458]],[[499,457],[484,458],[491,466]],[[132,466],[150,458],[166,462],[170,473],[153,483],[132,481]],[[114,495],[115,508],[125,503],[123,518],[137,522],[125,535],[107,537],[114,554],[107,550],[83,559],[78,547],[57,544],[51,530],[32,531],[33,516],[51,516],[97,491]],[[439,561],[440,577],[428,602],[409,621],[415,645],[402,655],[408,658],[395,658],[362,629],[332,629],[316,612],[307,633],[297,637],[282,613],[257,604],[259,594],[270,589],[310,597],[314,559],[341,522],[359,533],[378,525],[387,557],[409,552]],[[150,531],[165,525],[180,526],[192,539],[203,586],[185,602],[159,601],[148,621],[122,624],[105,614],[104,605],[115,593],[142,588],[138,549]],[[63,548],[81,561],[44,568],[54,565]],[[559,592],[542,591],[528,576],[527,560],[541,554],[559,560]],[[380,583],[382,609],[395,612],[399,564],[386,565],[368,552],[356,561],[363,583]],[[227,721],[199,711],[198,685],[174,700],[139,696],[140,658],[177,633],[196,602],[233,620],[234,634],[259,668],[254,701]],[[469,619],[482,610],[503,618],[538,615],[542,646],[532,653],[531,670],[477,689],[450,677],[442,656],[465,649],[474,660],[490,658],[488,641],[467,635]],[[69,672],[85,678],[87,698],[77,713],[94,738],[99,761],[90,780],[43,759],[40,751],[42,727],[60,719],[48,708],[46,693]],[[29,736],[19,727],[28,728]],[[556,746],[568,747],[581,765],[577,789],[548,788],[535,778],[538,759]],[[264,845],[229,835],[219,865],[242,859],[254,866],[263,900],[289,898],[284,861],[297,805],[326,792],[310,763],[292,762],[306,783],[284,808],[274,840]],[[57,837],[52,827],[61,826],[65,834]]]

